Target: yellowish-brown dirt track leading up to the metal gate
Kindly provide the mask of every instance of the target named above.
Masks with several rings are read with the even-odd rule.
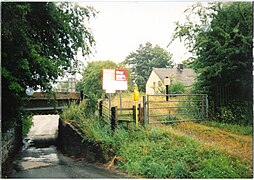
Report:
[[[251,136],[237,135],[217,127],[194,122],[178,123],[176,126],[170,126],[168,130],[179,135],[188,135],[206,146],[219,148],[225,153],[239,157],[240,160],[246,160],[249,165],[252,164]]]

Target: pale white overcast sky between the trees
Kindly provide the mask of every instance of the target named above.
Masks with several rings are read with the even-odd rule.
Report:
[[[184,10],[194,2],[80,2],[99,13],[90,27],[96,40],[96,52],[89,60],[122,62],[140,44],[158,44],[173,54],[176,63],[189,55],[183,42],[167,47],[175,22],[185,20]]]

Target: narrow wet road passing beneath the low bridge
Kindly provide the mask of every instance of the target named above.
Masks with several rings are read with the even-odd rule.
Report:
[[[59,152],[56,148],[58,118],[58,115],[33,117],[33,126],[8,178],[124,178]]]

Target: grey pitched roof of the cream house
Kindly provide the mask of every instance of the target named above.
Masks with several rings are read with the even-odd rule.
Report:
[[[153,71],[162,82],[168,77],[173,82],[182,82],[185,86],[191,86],[197,77],[194,70],[190,68],[184,68],[182,70],[178,68],[153,68]]]

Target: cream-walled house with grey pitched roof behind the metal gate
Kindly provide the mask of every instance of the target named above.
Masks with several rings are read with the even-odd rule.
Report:
[[[165,92],[164,79],[170,79],[170,84],[182,82],[186,88],[190,88],[194,83],[197,74],[193,69],[184,68],[179,64],[176,68],[153,68],[147,82],[146,94],[161,94]]]

